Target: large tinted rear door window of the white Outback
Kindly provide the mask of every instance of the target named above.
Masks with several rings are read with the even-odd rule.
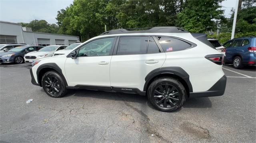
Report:
[[[117,55],[146,54],[148,37],[120,37]]]

